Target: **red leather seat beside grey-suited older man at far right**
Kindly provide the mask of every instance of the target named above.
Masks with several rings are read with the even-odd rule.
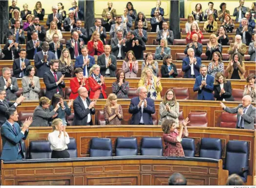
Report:
[[[220,125],[219,125],[219,127],[235,129],[236,118],[237,118],[236,113],[222,112],[221,115],[220,115]]]

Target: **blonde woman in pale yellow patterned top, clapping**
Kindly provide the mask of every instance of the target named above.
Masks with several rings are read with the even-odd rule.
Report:
[[[138,87],[145,86],[147,88],[149,98],[161,99],[160,92],[163,88],[160,79],[160,77],[153,75],[152,69],[145,67],[141,73],[141,79]]]

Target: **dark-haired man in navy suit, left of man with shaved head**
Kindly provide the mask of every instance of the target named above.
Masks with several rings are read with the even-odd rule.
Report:
[[[12,70],[13,75],[17,78],[22,78],[26,75],[26,67],[30,65],[30,60],[26,59],[26,50],[21,49],[20,50],[20,58],[14,59]]]

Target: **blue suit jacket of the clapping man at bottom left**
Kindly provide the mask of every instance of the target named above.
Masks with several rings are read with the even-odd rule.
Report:
[[[25,148],[22,147],[21,140],[25,140],[27,138],[28,131],[23,134],[18,123],[15,122],[14,126],[17,132],[14,131],[7,121],[5,121],[1,127],[2,153],[0,158],[5,161],[18,159],[19,145],[22,150],[21,156],[24,158],[23,151]]]

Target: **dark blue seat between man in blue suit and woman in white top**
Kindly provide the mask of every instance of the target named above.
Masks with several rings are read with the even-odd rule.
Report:
[[[29,144],[30,159],[50,159],[52,150],[50,142],[47,140],[35,140]]]

